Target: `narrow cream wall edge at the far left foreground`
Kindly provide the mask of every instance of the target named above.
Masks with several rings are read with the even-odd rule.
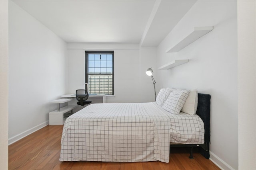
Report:
[[[8,169],[8,1],[0,1],[0,169]]]

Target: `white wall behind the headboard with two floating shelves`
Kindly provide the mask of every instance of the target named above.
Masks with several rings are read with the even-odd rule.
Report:
[[[197,1],[157,49],[158,67],[174,59],[189,59],[158,71],[163,87],[198,88],[211,95],[210,158],[224,169],[238,169],[236,9],[236,1]],[[200,26],[214,29],[178,53],[165,52]]]

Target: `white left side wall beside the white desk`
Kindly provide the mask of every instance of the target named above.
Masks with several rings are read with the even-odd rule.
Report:
[[[66,42],[9,1],[9,143],[48,124],[66,74]]]

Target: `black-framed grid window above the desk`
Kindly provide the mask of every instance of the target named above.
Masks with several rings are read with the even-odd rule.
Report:
[[[89,94],[114,95],[114,51],[85,51]]]

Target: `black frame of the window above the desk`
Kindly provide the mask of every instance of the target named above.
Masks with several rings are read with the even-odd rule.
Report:
[[[88,83],[88,54],[112,54],[112,94],[107,94],[109,96],[114,95],[114,51],[85,51],[85,83]],[[95,74],[95,73],[94,73]],[[107,75],[107,74],[98,74]],[[88,91],[86,84],[85,89]]]

